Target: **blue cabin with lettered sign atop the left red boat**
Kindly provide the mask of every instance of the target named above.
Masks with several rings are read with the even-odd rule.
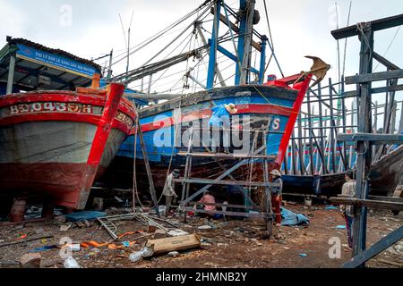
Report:
[[[32,90],[88,87],[97,63],[23,38],[7,37],[0,50],[0,96]]]

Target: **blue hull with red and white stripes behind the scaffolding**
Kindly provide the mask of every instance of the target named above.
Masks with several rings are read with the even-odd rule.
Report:
[[[244,137],[249,137],[246,140],[248,145],[236,148],[232,144],[234,157],[231,160],[194,158],[195,177],[214,176],[222,171],[222,165],[227,165],[227,162],[234,164],[236,154],[250,154],[253,150],[253,132],[250,130],[267,131],[266,155],[270,156],[270,169],[279,169],[286,156],[296,116],[312,77],[312,73],[308,72],[284,80],[273,80],[264,85],[213,88],[141,109],[138,115],[155,187],[159,190],[163,188],[167,170],[177,168],[184,171],[186,158],[181,153],[186,152],[189,146],[191,126],[193,137],[200,139],[199,145],[193,142],[193,151],[208,152],[209,147],[203,146],[202,141],[206,142],[208,136],[206,130],[211,117],[211,106],[236,105],[237,114],[232,116],[232,127],[240,134],[246,130]],[[221,134],[221,139],[222,136]],[[181,141],[179,144],[178,140]],[[262,143],[262,137],[260,140]],[[116,160],[122,162],[123,157],[135,159],[138,177],[146,177],[141,142],[135,136],[124,141]],[[222,164],[221,167],[218,161]],[[259,166],[259,162],[256,166]],[[243,176],[242,171],[239,176]]]

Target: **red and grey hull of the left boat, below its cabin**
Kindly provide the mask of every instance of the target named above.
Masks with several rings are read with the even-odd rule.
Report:
[[[124,86],[0,97],[0,191],[83,209],[134,122]]]

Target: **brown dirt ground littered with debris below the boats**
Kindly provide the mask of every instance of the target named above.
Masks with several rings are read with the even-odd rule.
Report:
[[[136,241],[131,247],[120,249],[81,248],[73,252],[73,257],[82,268],[336,268],[351,257],[347,248],[347,231],[338,229],[345,222],[338,210],[326,210],[325,206],[287,205],[297,214],[305,214],[311,220],[306,228],[279,227],[274,229],[274,236],[267,240],[265,231],[259,222],[247,221],[210,221],[191,218],[187,224],[179,223],[178,229],[201,235],[201,248],[181,252],[178,257],[152,257],[132,263],[128,257],[141,249],[146,239],[134,234],[114,242],[121,246],[124,240]],[[116,209],[108,214],[116,214]],[[403,215],[393,216],[389,212],[371,213],[368,219],[368,246],[381,239],[382,236],[396,230],[403,222]],[[209,223],[213,229],[200,231],[199,226]],[[91,222],[89,227],[73,224],[68,231],[61,231],[62,225],[69,225],[60,220],[46,223],[10,224],[0,223],[0,268],[18,267],[20,257],[36,248],[59,245],[60,240],[67,237],[73,243],[110,241],[107,231],[99,227],[99,223]],[[116,223],[119,233],[126,231],[147,231],[147,227],[137,221]],[[24,238],[24,235],[28,237]],[[2,247],[7,243],[22,242],[39,237],[52,236],[45,240],[15,244]],[[341,257],[330,258],[330,239],[339,238],[342,243]],[[60,249],[39,251],[43,268],[63,268],[64,259],[60,257]],[[384,251],[368,264],[368,267],[403,267],[403,241],[393,248]]]

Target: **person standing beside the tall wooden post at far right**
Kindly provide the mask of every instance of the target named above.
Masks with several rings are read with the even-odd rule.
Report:
[[[355,172],[353,170],[348,170],[345,174],[346,183],[341,189],[341,195],[345,197],[354,198],[356,196],[356,181]],[[348,247],[353,248],[353,220],[354,220],[354,206],[344,206],[340,205],[340,211],[346,220],[347,226],[347,236],[348,236]]]

